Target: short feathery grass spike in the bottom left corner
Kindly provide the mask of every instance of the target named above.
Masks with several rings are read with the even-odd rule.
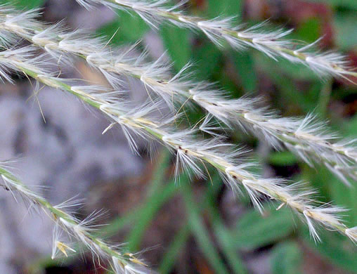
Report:
[[[84,220],[80,221],[78,218],[70,213],[67,213],[67,207],[73,207],[74,204],[65,202],[58,206],[53,206],[44,197],[35,193],[27,188],[18,178],[16,178],[4,164],[0,164],[0,185],[4,186],[6,190],[11,191],[13,197],[16,199],[16,195],[20,195],[25,202],[35,205],[38,209],[43,209],[46,214],[53,220],[53,248],[52,259],[56,258],[59,253],[64,256],[69,256],[70,253],[77,252],[71,244],[67,242],[67,239],[74,238],[80,244],[84,244],[89,249],[93,256],[93,261],[101,260],[107,261],[112,265],[111,261],[115,260],[117,264],[122,268],[113,266],[116,274],[128,273],[126,269],[130,269],[130,273],[143,274],[152,273],[146,268],[145,263],[136,259],[134,255],[128,255],[118,246],[110,245],[100,238],[93,235],[96,226],[96,219],[100,216],[100,213],[93,213],[87,216]],[[63,233],[67,234],[67,239],[62,240]]]

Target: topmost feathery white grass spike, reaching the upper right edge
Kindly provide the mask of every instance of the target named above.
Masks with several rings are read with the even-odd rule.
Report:
[[[228,43],[237,50],[246,47],[255,48],[275,60],[285,58],[292,63],[303,64],[319,77],[332,76],[345,79],[350,76],[357,77],[357,72],[349,70],[348,62],[343,55],[334,51],[314,50],[318,41],[306,45],[285,39],[292,30],[266,31],[266,22],[245,28],[244,25],[236,26],[233,18],[206,20],[185,15],[179,10],[183,2],[167,7],[166,0],[77,0],[77,2],[86,8],[102,4],[113,9],[134,11],[154,28],[165,21],[178,27],[198,30],[204,32],[217,46]]]

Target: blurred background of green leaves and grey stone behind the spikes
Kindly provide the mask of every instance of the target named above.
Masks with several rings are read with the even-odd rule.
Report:
[[[74,0],[16,0],[22,10],[42,8],[41,20],[63,20],[70,29],[87,29],[112,46],[141,39],[150,58],[163,53],[173,72],[193,61],[197,79],[216,82],[238,98],[263,96],[283,116],[314,112],[329,119],[345,138],[357,135],[357,88],[346,80],[322,80],[303,66],[275,62],[254,50],[219,50],[201,34],[163,25],[153,32],[134,14],[107,8],[86,11]],[[190,0],[188,13],[214,18],[229,15],[254,24],[294,28],[291,39],[306,42],[323,37],[318,46],[337,49],[357,67],[356,0]],[[104,83],[84,63],[65,71],[68,77]],[[141,84],[125,79],[131,97],[140,103],[147,93]],[[357,79],[354,79],[357,81]],[[25,183],[46,186],[53,204],[82,200],[79,218],[103,209],[100,233],[112,242],[126,242],[131,252],[159,273],[357,273],[357,248],[337,233],[320,230],[315,244],[309,231],[288,209],[264,202],[261,216],[247,197],[234,197],[214,170],[210,180],[189,179],[183,172],[175,183],[174,157],[160,145],[150,158],[147,143],[138,139],[139,155],[129,149],[119,129],[101,134],[108,121],[60,91],[41,89],[24,77],[0,86],[0,159],[16,163]],[[41,116],[41,110],[46,123]],[[200,110],[189,111],[194,124]],[[346,224],[357,223],[357,188],[347,188],[322,167],[311,169],[290,152],[276,152],[242,131],[230,141],[253,148],[261,173],[293,181],[309,181],[321,200],[351,209]],[[110,273],[93,266],[91,254],[52,261],[52,224],[46,216],[28,214],[11,195],[0,192],[0,273]]]

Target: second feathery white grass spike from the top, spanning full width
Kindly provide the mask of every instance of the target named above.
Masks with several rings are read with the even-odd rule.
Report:
[[[140,79],[150,91],[162,97],[168,105],[181,107],[187,100],[200,105],[228,126],[240,126],[255,136],[265,139],[275,149],[283,146],[304,162],[324,164],[346,185],[349,178],[357,180],[356,140],[339,141],[337,133],[330,131],[325,122],[312,114],[304,118],[280,117],[266,107],[257,107],[259,98],[230,99],[225,91],[208,82],[195,82],[184,76],[183,69],[174,77],[170,65],[161,59],[153,63],[131,56],[129,50],[109,50],[103,41],[80,31],[69,32],[60,25],[46,27],[37,21],[38,10],[18,13],[11,8],[0,10],[0,33],[13,40],[14,34],[44,48],[57,59],[72,62],[71,55],[86,60],[99,70],[114,88],[121,86],[118,76],[125,74]],[[173,101],[173,102],[172,102]],[[205,130],[205,126],[201,126]]]

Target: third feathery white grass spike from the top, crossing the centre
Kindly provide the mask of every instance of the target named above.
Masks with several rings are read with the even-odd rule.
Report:
[[[31,49],[25,52],[30,51]],[[23,62],[20,63],[18,56],[16,58],[9,54],[8,56],[5,64],[8,66],[8,70],[25,72],[28,76],[34,77],[47,86],[72,93],[80,100],[103,112],[110,118],[111,122],[119,124],[123,129],[130,129],[144,138],[155,138],[161,141],[167,148],[176,152],[181,164],[192,169],[198,176],[204,174],[205,169],[202,164],[212,165],[220,172],[226,184],[236,193],[242,188],[247,190],[257,209],[261,210],[260,196],[266,195],[296,211],[308,223],[314,239],[318,240],[316,225],[320,225],[330,230],[336,230],[353,240],[353,228],[346,227],[339,218],[338,213],[342,211],[341,209],[332,207],[330,204],[316,206],[316,202],[311,197],[313,192],[301,190],[299,184],[288,185],[282,179],[262,178],[254,174],[251,171],[252,163],[242,161],[242,150],[236,150],[233,145],[223,143],[221,138],[208,140],[197,138],[195,136],[197,129],[177,129],[172,126],[174,121],[172,117],[166,121],[152,119],[150,113],[156,107],[155,105],[152,107],[150,104],[145,104],[133,110],[133,107],[127,107],[126,103],[118,100],[119,96],[117,96],[116,91],[105,91],[103,89],[103,92],[98,92],[102,89],[100,86],[71,86],[68,80],[52,77],[51,74],[46,74],[46,72],[38,73],[41,71],[40,66],[32,72],[32,68],[34,68],[32,60],[22,58]],[[46,56],[43,58],[46,58]],[[12,62],[13,64],[10,65]],[[129,131],[127,132],[130,134]],[[129,135],[129,141],[134,142],[131,135]],[[86,242],[81,237],[81,235],[85,236],[84,231],[86,231],[85,226],[83,228],[81,223],[76,223],[74,226],[71,223],[64,223],[64,226],[68,230],[72,227],[72,233],[79,237],[82,242]],[[96,250],[98,247],[103,247],[103,242],[100,240],[94,242],[93,246],[91,245],[89,248]]]

